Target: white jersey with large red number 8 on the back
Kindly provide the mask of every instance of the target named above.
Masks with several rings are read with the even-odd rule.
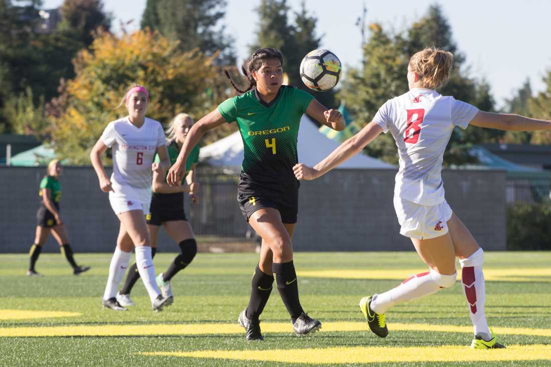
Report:
[[[381,106],[373,121],[383,132],[392,133],[398,147],[396,196],[426,206],[444,201],[440,176],[444,150],[453,128],[467,128],[477,113],[477,107],[424,88]]]

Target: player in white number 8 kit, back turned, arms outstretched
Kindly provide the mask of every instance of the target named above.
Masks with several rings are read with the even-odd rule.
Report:
[[[430,269],[388,292],[360,300],[371,331],[386,337],[387,309],[451,287],[457,277],[457,257],[474,326],[471,348],[504,348],[491,335],[484,314],[484,252],[444,198],[442,157],[455,126],[532,131],[551,129],[551,121],[479,111],[452,96],[440,95],[435,89],[446,84],[452,61],[450,52],[434,47],[415,53],[408,64],[408,93],[386,101],[372,122],[313,168],[297,164],[293,169],[299,180],[316,179],[361,152],[381,132],[390,131],[399,156],[394,206],[400,233],[412,240]]]

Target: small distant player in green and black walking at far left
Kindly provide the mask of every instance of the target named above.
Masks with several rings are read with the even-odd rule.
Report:
[[[61,253],[65,255],[67,261],[73,268],[73,274],[78,275],[90,269],[89,266],[78,266],[74,261],[73,250],[71,249],[71,245],[69,245],[65,226],[60,217],[60,174],[61,162],[58,159],[53,159],[48,163],[47,175],[40,181],[40,207],[36,212],[35,241],[29,251],[30,264],[29,270],[27,271],[28,276],[42,275],[36,272],[35,264],[50,232],[60,245]]]

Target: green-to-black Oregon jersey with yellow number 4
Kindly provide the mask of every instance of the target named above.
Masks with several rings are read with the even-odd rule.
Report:
[[[313,98],[303,90],[282,85],[269,105],[258,100],[255,90],[249,90],[218,106],[224,120],[236,121],[239,126],[244,147],[243,174],[262,181],[294,179],[300,118]]]

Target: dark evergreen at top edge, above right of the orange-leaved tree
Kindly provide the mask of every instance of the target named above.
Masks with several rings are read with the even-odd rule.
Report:
[[[181,51],[198,48],[207,56],[217,55],[217,63],[231,65],[233,39],[225,35],[224,26],[217,28],[225,7],[225,0],[148,0],[141,26],[179,40]]]

